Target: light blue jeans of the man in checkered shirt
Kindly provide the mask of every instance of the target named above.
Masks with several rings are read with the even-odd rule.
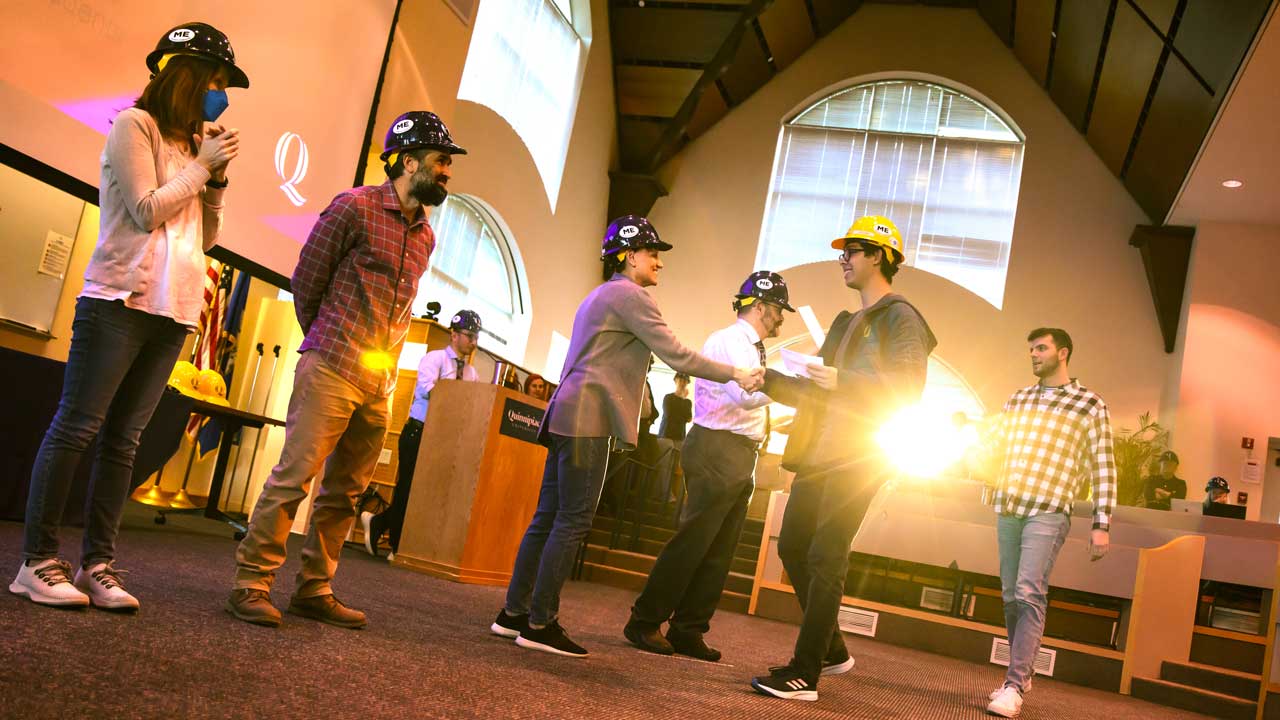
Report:
[[[1048,607],[1048,575],[1071,529],[1070,515],[1053,512],[1032,518],[1000,515],[996,519],[1000,546],[1000,585],[1009,630],[1009,671],[1005,684],[1027,687],[1044,635]]]

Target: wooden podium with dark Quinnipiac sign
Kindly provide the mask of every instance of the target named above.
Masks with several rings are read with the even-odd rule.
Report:
[[[422,428],[394,565],[506,585],[538,506],[547,404],[500,386],[440,380]]]

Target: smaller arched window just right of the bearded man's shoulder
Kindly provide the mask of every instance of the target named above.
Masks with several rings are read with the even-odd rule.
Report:
[[[431,213],[435,251],[419,283],[413,315],[440,304],[440,319],[462,309],[480,313],[486,331],[480,345],[522,363],[529,338],[529,284],[516,243],[498,215],[476,197],[451,193]]]

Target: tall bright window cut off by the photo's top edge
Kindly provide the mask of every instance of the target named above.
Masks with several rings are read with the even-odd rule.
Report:
[[[553,211],[582,83],[582,50],[561,3],[484,0],[458,87],[461,100],[490,108],[515,128]]]

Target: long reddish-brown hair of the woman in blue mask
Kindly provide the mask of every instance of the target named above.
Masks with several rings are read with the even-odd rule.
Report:
[[[204,132],[205,90],[219,65],[195,55],[174,55],[156,73],[133,106],[146,110],[160,126],[160,133],[184,142],[191,154],[197,149],[191,136]]]

